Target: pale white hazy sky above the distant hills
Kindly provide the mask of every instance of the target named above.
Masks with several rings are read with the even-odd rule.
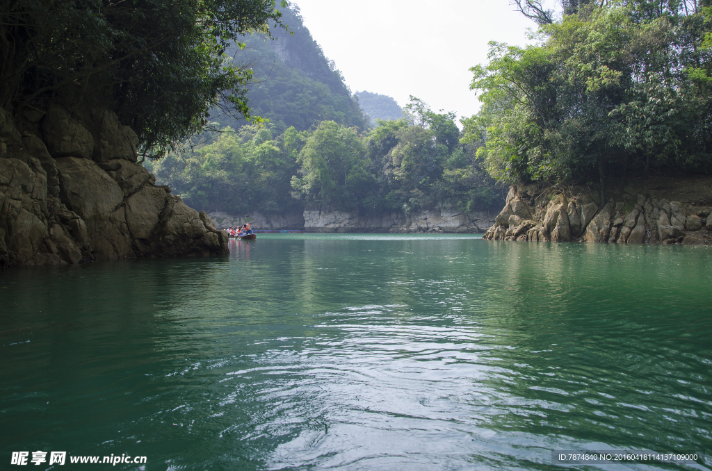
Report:
[[[508,0],[294,0],[305,26],[352,92],[414,95],[459,117],[479,109],[468,70],[488,41],[518,46],[535,28]],[[555,0],[548,2],[555,6]]]

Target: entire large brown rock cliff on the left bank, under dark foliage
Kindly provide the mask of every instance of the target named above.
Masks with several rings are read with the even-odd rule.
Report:
[[[0,109],[0,266],[228,253],[226,234],[137,164],[103,109]]]

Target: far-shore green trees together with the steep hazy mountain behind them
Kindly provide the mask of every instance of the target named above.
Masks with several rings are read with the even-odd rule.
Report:
[[[400,110],[391,98],[398,113],[390,116],[401,119],[369,129],[298,9],[289,6],[281,19],[294,36],[276,29],[278,41],[247,38],[236,56],[253,61],[261,82],[251,86],[248,105],[269,122],[248,125],[214,112],[214,132],[194,137],[184,152],[145,162],[157,181],[189,206],[232,214],[501,205],[501,191],[476,162],[478,142],[460,144],[454,113],[432,112],[413,97]]]

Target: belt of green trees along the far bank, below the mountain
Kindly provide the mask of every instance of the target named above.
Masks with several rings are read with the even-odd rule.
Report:
[[[226,127],[204,134],[185,154],[146,162],[161,181],[207,211],[301,211],[334,208],[403,211],[450,204],[462,211],[501,206],[476,161],[476,144],[460,144],[454,113],[436,113],[413,98],[407,118],[356,127],[323,121],[309,131]]]

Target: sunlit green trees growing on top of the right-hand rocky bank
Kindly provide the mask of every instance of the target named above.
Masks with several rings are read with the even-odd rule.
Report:
[[[483,107],[463,142],[501,181],[597,183],[712,171],[712,5],[708,0],[565,1],[554,21],[515,1],[540,43],[491,43],[471,70]]]

